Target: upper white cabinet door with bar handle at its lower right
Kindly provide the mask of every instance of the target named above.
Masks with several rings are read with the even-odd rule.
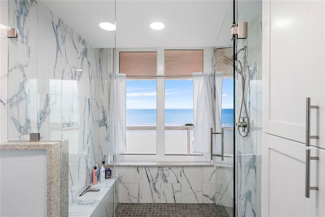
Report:
[[[305,143],[306,98],[311,145],[324,140],[324,1],[263,1],[263,131]]]

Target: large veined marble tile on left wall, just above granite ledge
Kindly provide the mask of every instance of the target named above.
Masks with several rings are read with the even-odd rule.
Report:
[[[37,51],[9,40],[8,138],[37,131]]]

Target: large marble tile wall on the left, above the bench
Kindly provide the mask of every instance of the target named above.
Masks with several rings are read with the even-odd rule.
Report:
[[[70,203],[91,183],[94,164],[108,161],[111,52],[93,48],[40,1],[6,2],[19,34],[8,39],[1,71],[0,139],[39,132],[42,140],[69,140]]]

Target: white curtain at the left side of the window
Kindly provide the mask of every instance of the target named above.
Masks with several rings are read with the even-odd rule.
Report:
[[[126,75],[117,74],[115,79],[115,150],[126,152]]]

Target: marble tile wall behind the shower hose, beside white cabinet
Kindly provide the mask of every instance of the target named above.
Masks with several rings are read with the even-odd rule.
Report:
[[[238,49],[247,46],[247,51],[240,52],[238,59],[243,64],[245,77],[245,99],[250,118],[250,133],[242,138],[236,134],[237,143],[237,215],[261,216],[261,136],[262,136],[262,4],[261,10],[255,11],[248,22],[248,38],[239,39]],[[258,8],[258,7],[256,7]],[[241,100],[241,80],[236,85],[236,116]]]

